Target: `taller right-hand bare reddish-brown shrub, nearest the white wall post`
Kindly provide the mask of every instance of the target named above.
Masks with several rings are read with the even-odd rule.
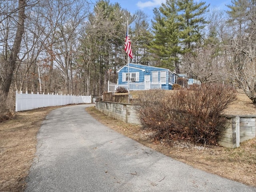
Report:
[[[225,129],[226,119],[221,115],[236,100],[231,87],[203,84],[192,91],[180,90],[172,98],[175,113],[185,138],[202,144],[216,144]],[[183,102],[183,103],[181,103]]]

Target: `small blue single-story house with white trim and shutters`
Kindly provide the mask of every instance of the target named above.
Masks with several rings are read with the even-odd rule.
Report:
[[[118,72],[118,84],[128,82],[128,64],[120,68]],[[129,63],[129,74],[131,83],[150,82],[160,84],[162,89],[171,90],[176,83],[178,75],[169,69],[152,67],[140,64]]]

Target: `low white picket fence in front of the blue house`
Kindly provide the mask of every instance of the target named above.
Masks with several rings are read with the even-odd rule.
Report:
[[[153,83],[153,82],[130,82],[129,83],[130,91],[140,91],[140,90],[149,90],[149,89],[161,89],[161,82]],[[116,92],[118,87],[123,87],[128,90],[128,83],[124,84],[116,84],[108,81],[108,92]]]

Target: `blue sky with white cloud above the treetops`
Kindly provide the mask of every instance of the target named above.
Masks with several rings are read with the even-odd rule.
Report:
[[[203,1],[206,2],[206,5],[210,4],[210,9],[217,8],[220,10],[226,10],[226,5],[231,4],[231,0],[195,0],[197,2]],[[136,10],[142,10],[145,12],[150,19],[153,16],[153,9],[159,7],[166,0],[110,0],[110,3],[118,2],[120,6],[124,9],[127,9],[132,14]]]

